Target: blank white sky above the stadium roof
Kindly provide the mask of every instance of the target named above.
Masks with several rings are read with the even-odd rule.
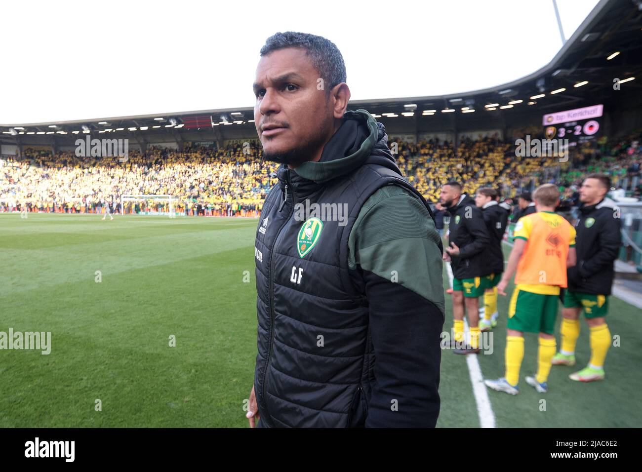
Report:
[[[558,0],[566,39],[598,3]],[[304,31],[342,52],[352,100],[473,91],[550,62],[552,0],[3,3],[0,123],[254,106],[259,49]]]

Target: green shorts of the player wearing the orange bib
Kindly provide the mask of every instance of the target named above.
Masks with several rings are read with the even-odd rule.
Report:
[[[558,295],[541,295],[516,288],[508,307],[508,329],[526,333],[555,333]]]

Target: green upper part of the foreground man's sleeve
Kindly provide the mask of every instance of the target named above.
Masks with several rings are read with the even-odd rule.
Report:
[[[348,267],[360,265],[433,302],[444,313],[439,233],[424,204],[401,186],[378,189],[363,204],[348,240]]]

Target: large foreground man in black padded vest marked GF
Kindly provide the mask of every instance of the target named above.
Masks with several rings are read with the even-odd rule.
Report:
[[[281,166],[254,242],[251,427],[437,423],[442,244],[383,125],[346,110],[345,80],[325,38],[288,31],[261,49],[254,120]]]

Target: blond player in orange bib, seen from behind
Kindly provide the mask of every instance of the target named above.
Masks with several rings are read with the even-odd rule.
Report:
[[[560,193],[553,184],[535,189],[537,213],[519,218],[514,247],[497,289],[504,290],[512,274],[516,288],[510,299],[506,337],[506,374],[486,380],[487,387],[516,395],[519,369],[524,357],[524,333],[539,333],[537,374],[526,383],[538,392],[548,390],[548,374],[555,355],[555,319],[560,287],[566,287],[566,269],[575,265],[575,228],[555,213]]]

